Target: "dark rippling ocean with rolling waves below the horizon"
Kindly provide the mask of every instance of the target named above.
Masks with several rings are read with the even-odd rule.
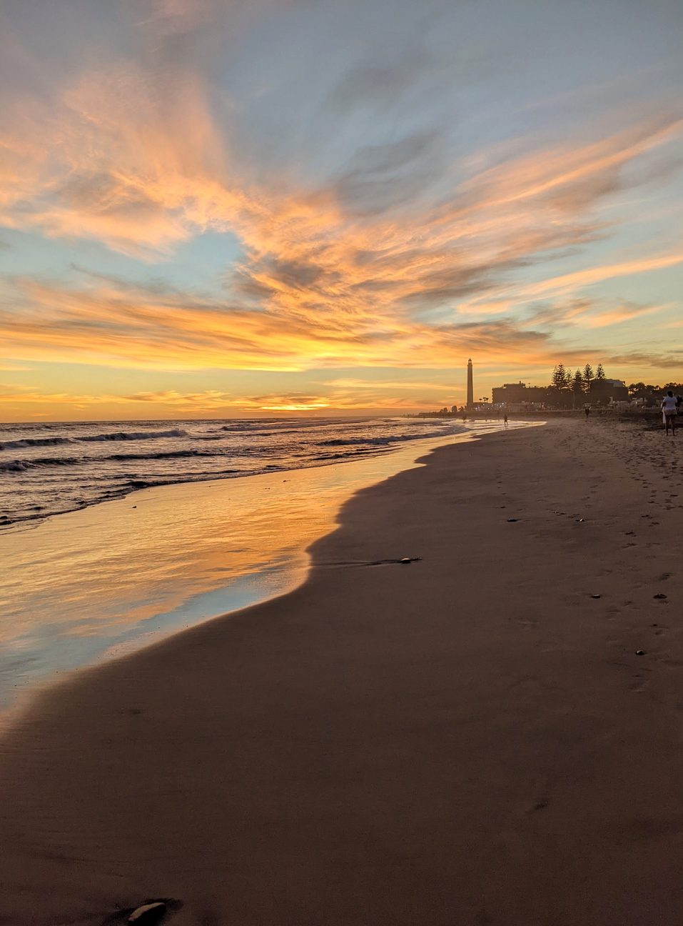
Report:
[[[409,418],[0,424],[0,529],[152,486],[320,467],[465,431]]]

